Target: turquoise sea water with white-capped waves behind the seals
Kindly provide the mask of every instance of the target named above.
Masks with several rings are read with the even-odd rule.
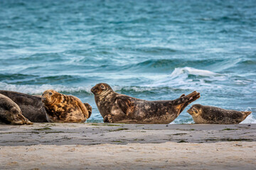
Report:
[[[146,100],[196,90],[256,123],[256,1],[0,1],[0,89],[72,94],[102,122],[100,82]]]

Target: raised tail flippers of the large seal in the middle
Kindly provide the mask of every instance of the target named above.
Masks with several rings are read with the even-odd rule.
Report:
[[[186,108],[186,106],[188,106],[193,101],[196,101],[198,98],[200,98],[200,93],[198,93],[197,91],[193,91],[191,94],[188,94],[186,96],[184,94],[181,95],[180,98],[174,100],[174,104],[181,105],[181,113],[184,110],[184,108]]]

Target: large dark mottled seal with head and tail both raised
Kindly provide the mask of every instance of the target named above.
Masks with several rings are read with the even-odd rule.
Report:
[[[200,94],[193,91],[174,101],[145,101],[118,94],[105,83],[95,85],[91,91],[105,123],[171,123],[189,103],[200,98]]]

